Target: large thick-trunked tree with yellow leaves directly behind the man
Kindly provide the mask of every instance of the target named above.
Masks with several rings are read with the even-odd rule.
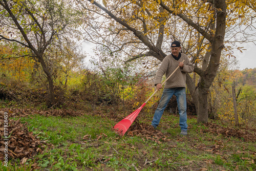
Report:
[[[207,97],[225,47],[226,28],[231,28],[244,17],[252,19],[255,14],[253,1],[108,1],[108,5],[104,4],[105,7],[96,1],[78,3],[83,10],[87,9],[87,19],[95,18],[96,15],[100,18],[105,17],[106,23],[110,21],[110,27],[106,27],[104,22],[97,23],[95,20],[91,23],[93,28],[100,26],[103,26],[101,27],[103,30],[109,28],[113,34],[113,41],[106,41],[104,34],[98,32],[101,44],[108,42],[117,50],[126,48],[128,52],[132,49],[126,45],[137,49],[132,51],[134,53],[129,52],[137,55],[126,61],[147,56],[154,56],[161,61],[169,51],[170,42],[176,39],[182,42],[185,50],[187,47],[194,47],[196,50],[193,52],[193,49],[190,49],[192,55],[189,55],[191,61],[195,63],[195,72],[200,79],[196,86],[187,75],[187,86],[197,106],[198,122],[208,120]],[[96,6],[98,9],[95,8]],[[235,8],[231,9],[233,7]],[[246,15],[237,17],[241,11]],[[120,25],[115,26],[113,20]],[[248,22],[243,19],[241,25],[245,23]],[[191,35],[182,32],[189,32]],[[118,40],[123,41],[120,42],[121,45],[116,46],[118,44],[115,44],[115,41],[118,36],[120,36]]]

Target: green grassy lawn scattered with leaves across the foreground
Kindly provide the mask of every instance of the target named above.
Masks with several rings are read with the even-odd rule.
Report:
[[[150,124],[152,117],[138,119]],[[117,122],[106,115],[30,115],[21,122],[44,142],[43,151],[23,165],[19,159],[8,167],[0,161],[0,170],[31,170],[35,163],[38,170],[256,170],[255,142],[207,133],[195,117],[188,119],[189,135],[181,136],[179,117],[163,115],[158,131],[168,140],[158,142],[129,131],[116,135]]]

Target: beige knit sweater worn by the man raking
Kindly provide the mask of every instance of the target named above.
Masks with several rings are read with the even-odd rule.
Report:
[[[157,70],[155,86],[158,83],[161,83],[162,77],[165,74],[166,78],[174,72],[174,70],[179,66],[179,62],[184,61],[183,69],[179,68],[166,82],[164,89],[177,88],[177,87],[186,87],[186,73],[191,73],[194,71],[194,65],[189,61],[186,54],[181,53],[179,60],[175,60],[172,54],[167,55],[159,69]]]

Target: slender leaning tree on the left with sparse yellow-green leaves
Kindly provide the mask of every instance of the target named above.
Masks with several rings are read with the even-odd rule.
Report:
[[[72,19],[75,21],[72,7],[61,0],[1,0],[0,11],[0,41],[16,42],[31,51],[48,80],[49,106],[54,105],[53,67],[46,52],[56,39],[62,38],[73,24]]]

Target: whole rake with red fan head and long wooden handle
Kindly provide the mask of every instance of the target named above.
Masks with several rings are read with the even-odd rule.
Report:
[[[184,60],[182,61],[184,62]],[[165,81],[162,83],[162,85],[164,85],[164,83],[179,69],[180,67],[178,66],[174,72],[172,74],[170,74],[168,76],[168,78],[165,79]],[[136,119],[136,117],[138,116],[138,114],[140,113],[141,109],[143,108],[143,106],[158,92],[158,90],[156,90],[151,96],[150,98],[148,98],[136,111],[134,111],[133,113],[131,113],[130,115],[128,115],[127,117],[125,117],[124,119],[122,119],[120,122],[118,122],[115,126],[114,126],[114,130],[116,131],[117,134],[119,134],[120,136],[123,136],[126,131],[129,129],[129,127],[132,125],[133,121]]]

